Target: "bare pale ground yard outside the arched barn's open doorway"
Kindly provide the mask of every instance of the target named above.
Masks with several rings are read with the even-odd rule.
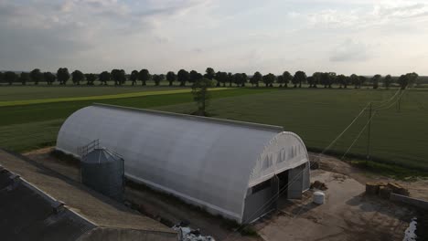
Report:
[[[265,240],[402,240],[412,211],[364,195],[364,185],[346,175],[316,170],[312,181],[326,183],[326,204],[310,195],[284,201],[278,215],[257,224]]]

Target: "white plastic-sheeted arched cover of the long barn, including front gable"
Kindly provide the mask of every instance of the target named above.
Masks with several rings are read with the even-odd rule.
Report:
[[[96,139],[123,156],[128,178],[238,222],[249,186],[308,162],[281,127],[101,104],[64,122],[57,149],[78,156]]]

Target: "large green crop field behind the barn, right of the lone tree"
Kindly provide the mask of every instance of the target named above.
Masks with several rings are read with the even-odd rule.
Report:
[[[300,135],[310,150],[322,151],[368,105],[388,100],[395,90],[284,89],[251,96],[213,100],[214,117],[283,126]],[[376,104],[373,104],[376,107]],[[188,113],[191,104],[156,108]],[[337,141],[330,152],[346,152],[369,120],[365,112]],[[401,100],[401,112],[393,105],[372,119],[371,155],[375,160],[428,170],[428,91],[410,90]],[[363,132],[349,156],[365,157],[367,132]]]

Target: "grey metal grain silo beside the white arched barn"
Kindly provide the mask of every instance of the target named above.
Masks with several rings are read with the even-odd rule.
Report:
[[[122,200],[123,158],[104,148],[95,148],[81,158],[81,182],[97,192]]]

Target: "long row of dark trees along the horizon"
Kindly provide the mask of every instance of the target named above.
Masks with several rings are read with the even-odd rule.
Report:
[[[294,75],[288,71],[284,71],[281,75],[272,73],[262,75],[257,71],[249,77],[245,73],[215,72],[213,68],[207,68],[204,74],[198,73],[196,70],[188,72],[185,69],[180,69],[177,73],[169,71],[166,75],[152,75],[145,68],[133,70],[129,75],[123,69],[112,69],[110,72],[102,71],[100,74],[84,74],[80,70],[74,70],[70,74],[68,68],[59,68],[56,73],[41,72],[40,69],[35,68],[29,73],[0,72],[0,83],[12,85],[14,82],[19,82],[22,85],[27,85],[28,82],[32,82],[34,85],[38,85],[40,82],[46,82],[48,85],[52,85],[57,81],[59,85],[67,85],[71,80],[74,85],[80,85],[86,81],[84,84],[93,86],[98,80],[100,85],[108,85],[108,83],[113,82],[115,86],[122,86],[126,81],[131,81],[133,86],[139,84],[145,86],[148,81],[153,80],[155,86],[159,86],[162,81],[166,80],[169,86],[174,86],[174,83],[177,82],[178,86],[184,87],[187,83],[193,85],[198,80],[205,78],[215,82],[217,87],[245,87],[247,84],[252,87],[259,87],[261,84],[264,87],[273,87],[273,84],[277,83],[279,88],[288,88],[290,85],[293,88],[302,88],[303,84],[307,84],[308,88],[332,88],[333,85],[338,85],[339,89],[349,87],[360,89],[365,84],[372,86],[373,89],[378,89],[382,83],[383,87],[389,89],[392,83],[397,83],[401,89],[405,89],[416,84],[418,77],[416,73],[408,73],[399,78],[392,78],[391,75],[385,77],[375,75],[368,78],[356,74],[350,76],[337,75],[334,72],[315,72],[312,76],[307,76],[304,71],[297,71]]]

